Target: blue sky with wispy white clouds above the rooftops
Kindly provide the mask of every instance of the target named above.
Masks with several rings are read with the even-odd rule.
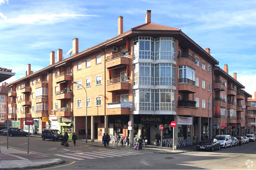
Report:
[[[151,22],[179,28],[211,55],[254,96],[256,84],[256,0],[254,1],[6,1],[0,0],[0,67],[12,69],[12,82],[26,65],[38,71],[49,65],[50,51],[72,48],[79,38],[83,51],[117,35],[117,18],[124,32]],[[55,57],[56,58],[56,57]],[[56,61],[56,60],[55,60]],[[254,98],[254,97],[253,97]]]

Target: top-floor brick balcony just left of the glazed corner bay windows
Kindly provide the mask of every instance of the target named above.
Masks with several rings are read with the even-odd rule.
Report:
[[[131,57],[128,53],[119,52],[106,57],[106,68],[126,64],[129,65]]]

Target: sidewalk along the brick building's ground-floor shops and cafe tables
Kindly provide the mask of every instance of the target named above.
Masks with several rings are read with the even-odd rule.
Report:
[[[40,137],[41,136],[33,136],[33,137]],[[104,147],[104,145],[102,144],[101,140],[94,140],[95,142],[91,142],[90,140],[87,140],[87,145],[91,145],[91,146],[95,146],[95,147]],[[73,141],[71,139],[68,139],[68,143],[73,143]],[[78,139],[76,141],[76,143],[83,143],[86,144],[86,140],[85,139]],[[108,149],[133,149],[133,147],[129,147],[129,146],[123,146],[123,145],[118,145],[118,144],[113,144],[113,143],[109,143],[109,147],[107,147]],[[161,151],[161,147],[156,147],[156,145],[148,145],[148,147],[143,147],[142,145],[142,150],[141,152],[143,153],[151,153],[151,154],[180,154],[180,153],[185,153],[185,152],[190,152],[190,151],[196,151],[196,146],[182,146],[182,147],[178,147],[178,149],[174,149],[174,152],[172,151],[172,147],[162,147],[162,151]]]

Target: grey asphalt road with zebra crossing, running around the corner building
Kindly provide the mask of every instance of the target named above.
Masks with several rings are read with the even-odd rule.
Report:
[[[0,136],[1,145],[7,145],[6,138]],[[27,142],[27,137],[9,137],[9,147],[27,150]],[[60,141],[30,137],[29,150],[66,161],[66,166],[57,165],[51,169],[256,169],[256,142],[214,152],[183,154],[152,154],[131,148],[69,144],[69,147],[63,147]]]

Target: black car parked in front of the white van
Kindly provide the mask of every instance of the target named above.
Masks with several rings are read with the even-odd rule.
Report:
[[[220,150],[220,142],[217,139],[203,139],[196,145],[197,150],[214,151],[214,149]]]

